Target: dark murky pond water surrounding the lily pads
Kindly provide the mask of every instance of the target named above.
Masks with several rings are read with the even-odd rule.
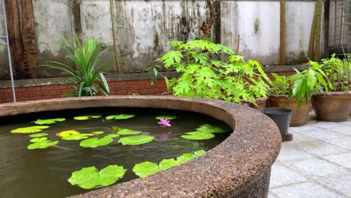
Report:
[[[106,120],[108,115],[135,114],[135,117],[120,120]],[[101,115],[101,118],[73,120],[74,116]],[[160,127],[155,119],[159,115],[176,115],[170,120],[171,127]],[[49,125],[50,128],[38,133],[48,133],[50,140],[59,140],[57,147],[28,150],[30,134],[11,134],[10,131],[30,127],[36,119],[66,118],[63,122]],[[83,109],[57,112],[26,114],[3,117],[0,121],[0,197],[66,197],[88,192],[79,186],[72,186],[67,179],[71,173],[84,167],[94,166],[101,170],[108,165],[119,165],[127,169],[125,175],[116,183],[138,178],[132,171],[135,164],[151,161],[159,164],[162,159],[175,158],[186,152],[205,150],[218,145],[230,133],[213,133],[214,138],[189,140],[181,137],[186,132],[195,131],[202,124],[227,125],[217,119],[186,111],[163,109]],[[82,140],[67,141],[56,136],[66,130],[80,133],[103,131],[104,137],[115,134],[112,126],[142,131],[141,134],[153,136],[151,142],[142,145],[123,146],[118,143],[122,137],[113,138],[107,146],[97,148],[80,147]],[[140,134],[138,134],[140,135]],[[124,136],[123,136],[124,137]],[[93,189],[90,189],[93,190]]]

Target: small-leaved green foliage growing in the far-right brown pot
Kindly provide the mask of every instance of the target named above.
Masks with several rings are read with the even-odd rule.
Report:
[[[326,80],[332,83],[331,91],[344,92],[350,90],[350,70],[351,55],[345,55],[345,59],[341,60],[335,57],[335,53],[331,58],[322,59],[321,69],[326,75]]]

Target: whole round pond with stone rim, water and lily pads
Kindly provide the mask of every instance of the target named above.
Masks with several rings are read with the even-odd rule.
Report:
[[[281,144],[266,116],[223,101],[111,96],[0,107],[2,197],[266,197]]]

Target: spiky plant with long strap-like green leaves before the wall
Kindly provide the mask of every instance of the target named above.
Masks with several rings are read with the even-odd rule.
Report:
[[[100,93],[106,96],[109,95],[109,87],[102,73],[109,64],[99,64],[99,62],[101,56],[110,48],[105,48],[103,43],[99,43],[93,38],[87,39],[84,45],[82,45],[75,33],[74,38],[77,42],[76,47],[65,37],[61,39],[65,43],[63,47],[67,52],[66,58],[76,65],[77,70],[74,70],[69,65],[56,61],[46,61],[40,66],[61,70],[70,76],[66,83],[79,84],[77,87],[66,84],[72,91],[65,94],[65,96],[97,96],[100,95]]]

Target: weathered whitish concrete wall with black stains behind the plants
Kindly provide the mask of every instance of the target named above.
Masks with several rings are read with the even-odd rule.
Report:
[[[64,60],[65,53],[55,43],[64,35],[72,40],[70,2],[72,0],[33,0],[38,45],[38,61]],[[279,63],[279,1],[215,0],[219,18],[213,38],[236,49],[241,35],[240,53],[263,64]],[[289,64],[304,61],[308,48],[314,1],[289,1],[286,10],[287,60]],[[204,0],[121,0],[113,1],[115,42],[124,73],[134,73],[153,64],[169,49],[172,40],[192,40],[201,35],[201,24],[208,17]],[[80,1],[82,38],[94,37],[113,46],[110,1]],[[0,15],[2,17],[2,15]],[[0,33],[4,28],[0,28]],[[0,78],[4,78],[6,53],[0,46]],[[5,58],[4,58],[5,57]],[[115,70],[114,50],[103,57]],[[8,69],[7,69],[8,70]],[[57,71],[40,69],[41,77],[60,76]],[[6,78],[6,77],[5,77]]]

